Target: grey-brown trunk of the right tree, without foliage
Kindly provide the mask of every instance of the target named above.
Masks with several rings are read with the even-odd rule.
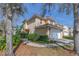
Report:
[[[78,16],[78,4],[73,4],[74,8],[74,49],[79,55],[79,16]]]

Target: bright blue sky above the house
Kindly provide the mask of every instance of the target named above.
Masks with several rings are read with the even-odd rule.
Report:
[[[33,15],[37,14],[40,15],[42,11],[41,4],[24,4],[24,7],[27,9],[27,12],[24,12],[24,16],[20,16],[16,19],[16,24],[21,25],[24,20],[29,20]],[[51,15],[49,12],[46,13],[46,16],[50,16],[53,20],[55,20],[57,23],[73,27],[73,13],[71,12],[69,15],[66,15],[66,13],[59,13],[57,11],[58,6],[55,8],[52,8]],[[71,10],[72,11],[72,10]]]

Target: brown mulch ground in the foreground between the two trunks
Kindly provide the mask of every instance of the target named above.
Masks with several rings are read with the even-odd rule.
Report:
[[[16,56],[74,56],[74,51],[67,51],[63,48],[37,48],[23,43],[17,48]]]

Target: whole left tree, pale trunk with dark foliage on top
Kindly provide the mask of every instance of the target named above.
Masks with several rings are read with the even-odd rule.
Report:
[[[15,15],[22,15],[24,9],[22,4],[15,3],[0,4],[0,8],[5,19],[6,55],[12,56],[14,55],[12,44],[12,20]]]

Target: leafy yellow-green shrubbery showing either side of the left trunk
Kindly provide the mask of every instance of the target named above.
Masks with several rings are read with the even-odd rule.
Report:
[[[13,35],[13,47],[16,47],[20,43],[20,35]],[[0,36],[0,50],[6,49],[6,39]]]

